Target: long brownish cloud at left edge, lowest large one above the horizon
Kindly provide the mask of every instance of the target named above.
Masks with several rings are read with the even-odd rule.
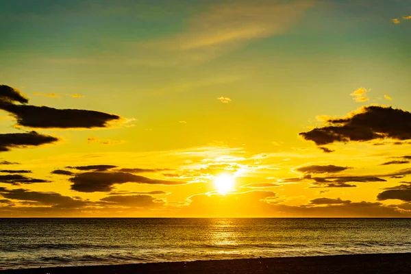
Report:
[[[81,208],[88,205],[87,201],[73,199],[55,192],[37,192],[23,188],[8,190],[0,188],[0,195],[18,201],[37,202],[40,206],[55,206],[58,208]]]

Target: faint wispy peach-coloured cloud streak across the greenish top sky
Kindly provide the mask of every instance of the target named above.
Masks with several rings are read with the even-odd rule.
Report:
[[[316,0],[219,1],[207,3],[201,12],[186,20],[180,33],[159,40],[140,42],[137,47],[153,51],[132,62],[148,66],[205,62],[247,42],[284,34],[314,6]],[[162,55],[162,58],[158,58]]]

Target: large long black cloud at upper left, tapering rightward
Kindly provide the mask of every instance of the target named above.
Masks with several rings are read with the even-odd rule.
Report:
[[[10,112],[17,124],[36,128],[92,128],[108,127],[108,122],[120,116],[94,110],[58,110],[46,106],[0,103],[0,109]]]

